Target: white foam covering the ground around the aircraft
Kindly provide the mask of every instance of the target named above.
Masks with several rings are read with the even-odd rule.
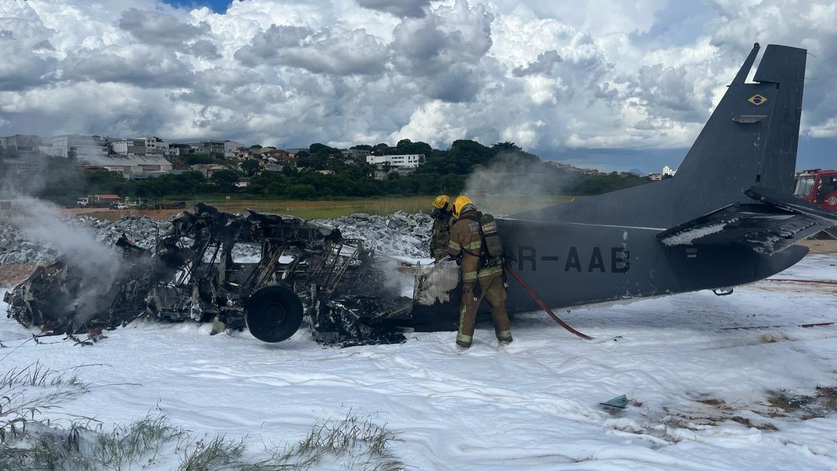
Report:
[[[837,469],[837,413],[815,401],[818,386],[837,386],[837,326],[799,327],[837,321],[835,286],[804,282],[834,281],[837,255],[774,278],[795,281],[559,313],[593,341],[528,313],[512,322],[510,347],[480,325],[464,355],[449,332],[335,349],[305,330],[264,344],[192,323],[135,322],[94,346],[35,344],[2,318],[0,340],[17,349],[0,350],[0,367],[90,365],[82,371],[100,386],[64,411],[107,425],[159,408],[256,450],[351,411],[396,432],[393,452],[414,469]],[[624,410],[598,405],[621,394]],[[783,411],[778,396],[800,398],[806,413]]]

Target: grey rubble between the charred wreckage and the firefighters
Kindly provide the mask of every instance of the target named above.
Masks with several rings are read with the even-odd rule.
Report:
[[[377,216],[357,213],[334,220],[315,220],[340,230],[344,237],[362,239],[365,246],[388,256],[427,258],[433,220],[424,213],[409,214],[398,211]]]

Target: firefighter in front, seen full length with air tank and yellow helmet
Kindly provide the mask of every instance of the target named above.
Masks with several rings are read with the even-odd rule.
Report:
[[[502,260],[488,259],[482,246],[480,213],[467,196],[454,199],[456,219],[450,229],[448,255],[460,262],[462,272],[462,303],[456,345],[468,349],[474,338],[476,311],[483,298],[491,308],[491,323],[500,344],[511,343],[509,315],[506,313],[506,286]]]

